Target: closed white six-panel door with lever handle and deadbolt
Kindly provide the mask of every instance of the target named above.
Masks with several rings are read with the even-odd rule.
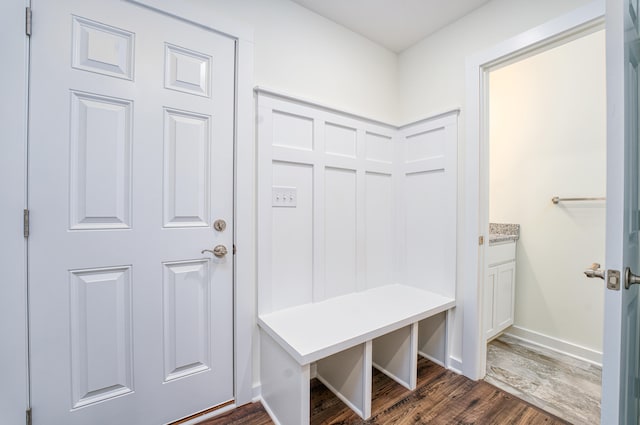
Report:
[[[234,40],[123,1],[32,8],[34,423],[232,400]]]

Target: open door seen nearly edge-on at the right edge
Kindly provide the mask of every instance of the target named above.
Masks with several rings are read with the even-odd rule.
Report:
[[[605,293],[602,424],[637,424],[638,285],[625,289],[624,271],[640,273],[638,247],[638,1],[607,0],[607,279],[622,272],[621,288]]]

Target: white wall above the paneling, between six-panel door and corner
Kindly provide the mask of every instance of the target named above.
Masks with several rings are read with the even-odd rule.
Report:
[[[254,29],[255,84],[398,122],[395,53],[289,0],[189,0]]]

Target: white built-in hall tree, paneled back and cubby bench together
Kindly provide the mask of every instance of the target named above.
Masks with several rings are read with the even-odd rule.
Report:
[[[394,128],[258,90],[260,379],[280,423],[308,423],[314,362],[365,419],[374,362],[409,389],[418,349],[451,364],[456,125],[457,111]],[[274,206],[276,186],[297,202]]]

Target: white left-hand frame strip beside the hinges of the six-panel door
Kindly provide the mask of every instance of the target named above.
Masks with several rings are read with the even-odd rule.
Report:
[[[0,79],[3,102],[3,155],[0,155],[0,421],[21,423],[29,406],[27,243],[22,211],[27,207],[27,75],[29,38],[25,34],[25,8],[29,0],[0,5],[0,26],[5,29],[5,68]]]

